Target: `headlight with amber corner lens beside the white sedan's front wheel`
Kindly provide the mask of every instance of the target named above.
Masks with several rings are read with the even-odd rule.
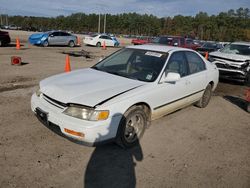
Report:
[[[108,110],[94,110],[81,106],[70,106],[63,111],[64,114],[89,121],[105,120],[109,116]]]

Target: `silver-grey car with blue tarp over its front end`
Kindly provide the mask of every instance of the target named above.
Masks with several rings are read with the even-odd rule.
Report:
[[[35,33],[29,37],[29,42],[34,45],[68,45],[74,47],[77,44],[77,36],[64,31],[47,31],[44,33]]]

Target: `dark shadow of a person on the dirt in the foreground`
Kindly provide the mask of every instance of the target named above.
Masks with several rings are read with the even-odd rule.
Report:
[[[140,144],[123,149],[116,144],[95,148],[84,176],[85,188],[136,187],[135,161],[142,161]]]

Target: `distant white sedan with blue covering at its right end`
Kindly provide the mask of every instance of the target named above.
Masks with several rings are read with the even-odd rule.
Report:
[[[101,47],[104,45],[106,46],[119,46],[120,43],[118,42],[118,40],[114,37],[114,36],[109,36],[106,34],[93,34],[90,36],[86,36],[83,39],[83,43],[86,45],[90,45],[90,46],[97,46],[97,47]]]

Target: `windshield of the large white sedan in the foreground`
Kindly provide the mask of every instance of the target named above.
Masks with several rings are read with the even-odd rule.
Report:
[[[124,48],[102,60],[93,69],[130,79],[153,82],[159,76],[167,53]]]

